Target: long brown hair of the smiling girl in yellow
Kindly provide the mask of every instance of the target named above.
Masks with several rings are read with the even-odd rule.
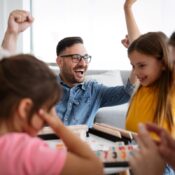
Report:
[[[162,120],[167,121],[171,130],[173,126],[173,114],[171,106],[171,93],[173,88],[173,61],[168,53],[168,38],[162,32],[149,32],[141,35],[128,48],[128,56],[133,52],[153,56],[162,61],[164,70],[155,82],[158,91],[157,105],[154,114],[154,122],[160,124]]]

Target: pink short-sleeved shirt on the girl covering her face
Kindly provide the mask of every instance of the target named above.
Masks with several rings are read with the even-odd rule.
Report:
[[[66,150],[51,150],[47,144],[25,133],[0,137],[0,174],[60,174]]]

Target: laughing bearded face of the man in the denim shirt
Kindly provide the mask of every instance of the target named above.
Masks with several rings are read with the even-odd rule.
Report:
[[[67,47],[58,57],[57,64],[60,67],[60,75],[62,80],[73,87],[77,83],[84,81],[85,72],[88,68],[88,63],[84,59],[80,59],[79,62],[74,62],[71,56],[64,57],[65,55],[81,55],[87,54],[87,51],[83,44],[74,44],[71,47]]]

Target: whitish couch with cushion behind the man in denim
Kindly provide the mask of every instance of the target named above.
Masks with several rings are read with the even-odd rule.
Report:
[[[58,74],[57,67],[51,69]],[[128,70],[88,70],[86,80],[94,79],[107,86],[116,86],[126,84],[129,77]],[[106,123],[112,126],[124,128],[125,116],[128,109],[128,103],[114,107],[104,107],[98,110],[95,122]]]

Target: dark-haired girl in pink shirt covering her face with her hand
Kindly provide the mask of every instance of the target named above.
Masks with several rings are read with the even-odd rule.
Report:
[[[103,174],[96,155],[55,115],[59,98],[55,75],[34,56],[0,61],[0,174]],[[45,123],[67,151],[35,137]]]

